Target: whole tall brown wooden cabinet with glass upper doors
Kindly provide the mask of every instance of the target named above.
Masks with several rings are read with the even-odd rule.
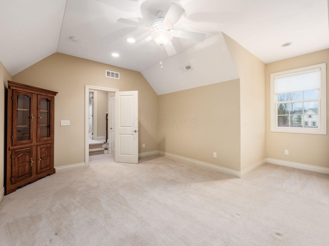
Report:
[[[54,96],[8,81],[6,194],[55,173]]]

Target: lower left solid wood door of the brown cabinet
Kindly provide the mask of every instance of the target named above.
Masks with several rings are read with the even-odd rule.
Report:
[[[32,176],[33,148],[12,151],[11,183],[17,183]]]

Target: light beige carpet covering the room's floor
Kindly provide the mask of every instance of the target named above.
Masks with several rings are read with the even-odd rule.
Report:
[[[266,164],[234,178],[107,154],[5,196],[4,245],[329,245],[329,175]]]

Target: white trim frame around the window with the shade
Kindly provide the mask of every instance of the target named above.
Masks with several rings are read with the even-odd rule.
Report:
[[[300,127],[278,127],[277,120],[277,107],[276,107],[276,96],[274,90],[274,78],[279,75],[291,74],[291,73],[301,73],[305,70],[320,68],[321,71],[321,93],[320,93],[320,104],[318,105],[319,120],[318,128],[300,128]],[[298,69],[291,69],[278,73],[270,74],[270,129],[271,132],[287,132],[287,133],[305,133],[305,134],[326,134],[326,64],[317,64],[312,66],[307,66]]]

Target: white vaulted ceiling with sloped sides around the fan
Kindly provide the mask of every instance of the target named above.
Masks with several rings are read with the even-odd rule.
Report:
[[[174,37],[176,54],[169,56],[148,38],[151,30],[117,22],[125,18],[150,26],[172,2],[185,9],[174,29],[205,33],[204,42]],[[170,84],[170,79],[163,85],[160,59],[182,79],[181,85],[193,78],[183,77],[179,68],[190,60],[204,64],[202,54],[217,57],[206,65],[224,66],[222,79],[237,76],[221,32],[264,63],[326,49],[328,0],[0,0],[0,61],[11,75],[61,52],[140,71],[158,94],[168,93],[186,87]],[[136,43],[126,42],[128,37]],[[282,46],[288,42],[292,44]],[[205,66],[196,68],[204,71]],[[194,84],[190,87],[200,86]]]

